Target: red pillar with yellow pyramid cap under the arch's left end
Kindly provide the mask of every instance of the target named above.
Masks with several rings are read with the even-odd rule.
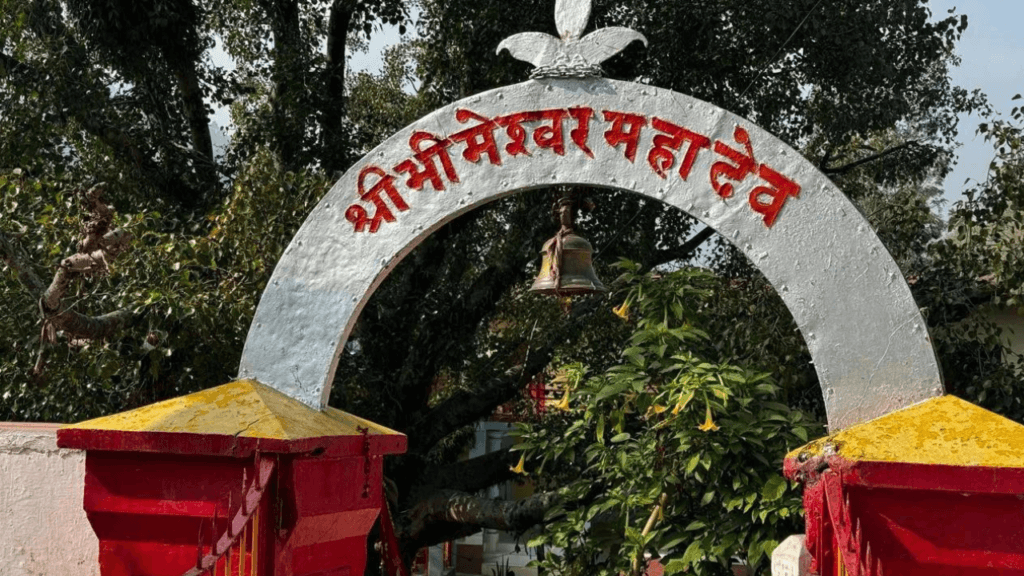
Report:
[[[360,576],[406,437],[240,380],[63,427],[103,576]]]

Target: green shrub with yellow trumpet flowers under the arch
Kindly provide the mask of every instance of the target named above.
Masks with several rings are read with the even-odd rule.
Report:
[[[562,550],[543,563],[553,574],[617,575],[644,552],[673,573],[728,574],[733,558],[762,564],[798,530],[800,495],[779,475],[782,456],[823,430],[778,401],[767,373],[714,359],[696,311],[718,279],[624,265],[616,314],[633,331],[621,364],[586,379],[582,365],[564,367],[566,414],[517,430],[526,469],[566,502],[530,544]]]

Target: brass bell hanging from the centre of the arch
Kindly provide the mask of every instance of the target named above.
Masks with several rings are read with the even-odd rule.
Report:
[[[541,273],[529,291],[572,296],[607,292],[594,272],[594,247],[573,229],[573,202],[562,198],[555,205],[561,229],[541,249]]]

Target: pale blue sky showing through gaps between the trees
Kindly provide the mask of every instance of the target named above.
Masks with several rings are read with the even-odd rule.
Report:
[[[980,88],[992,108],[1009,117],[1014,106],[1022,105],[1011,98],[1024,93],[1024,0],[930,0],[928,5],[936,19],[945,17],[952,8],[956,14],[968,15],[967,31],[957,45],[962,63],[951,71],[953,83],[969,90]],[[386,27],[373,36],[365,52],[352,54],[351,69],[380,71],[384,48],[398,40],[397,28]],[[215,50],[214,60],[218,59],[222,63],[227,58],[222,52],[218,57]],[[223,128],[219,134],[215,129],[214,141],[223,146],[228,138],[225,132],[231,131],[226,111],[217,111],[214,121]],[[972,182],[985,179],[994,150],[976,134],[981,122],[968,115],[959,119],[958,160],[942,186],[946,210],[964,198],[963,191]]]

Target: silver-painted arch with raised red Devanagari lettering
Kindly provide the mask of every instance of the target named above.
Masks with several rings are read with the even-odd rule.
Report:
[[[565,112],[570,109],[578,113]],[[583,109],[593,111],[586,122],[585,113],[579,113]],[[525,111],[549,112],[508,121]],[[614,135],[610,140],[605,136],[614,131],[615,113],[649,120],[640,127],[632,161],[628,141],[612,146]],[[690,140],[671,151],[675,161],[665,177],[653,169],[657,159],[648,159],[658,141],[666,147],[665,132],[652,126],[655,117],[712,142],[697,150],[686,179],[679,168]],[[467,136],[468,128],[494,119],[504,119],[504,124],[489,124]],[[525,129],[526,136],[519,136],[525,154],[509,154],[512,148],[507,147],[514,140],[509,124]],[[584,124],[589,129],[586,139],[580,132],[570,134]],[[564,128],[561,151],[551,146],[551,136],[557,135],[551,128],[557,125]],[[544,126],[549,129],[539,129]],[[618,126],[617,133],[630,127]],[[800,187],[799,196],[785,197],[771,227],[752,209],[751,191],[765,184],[756,168],[741,181],[732,181],[719,166],[713,184],[713,167],[728,160],[715,142],[743,153],[742,131],[750,140],[745,151],[753,152],[758,165]],[[412,189],[407,181],[411,172],[394,169],[413,159],[410,138],[416,132],[437,138],[421,138],[417,151],[456,135],[445,149],[451,172],[436,158],[432,161],[442,191],[429,179],[421,182],[422,190]],[[500,164],[493,163],[485,150],[475,162],[467,160],[464,151],[473,142],[485,145],[488,132]],[[537,132],[543,133],[540,139]],[[663,138],[655,140],[659,135]],[[577,137],[583,146],[577,146]],[[760,175],[771,178],[770,173]],[[378,187],[377,196],[393,221],[378,219],[377,232],[371,233],[374,222],[367,219],[356,232],[353,222],[374,214],[374,195],[360,202],[358,192],[366,194],[389,177],[398,198],[387,194],[386,187]],[[927,328],[896,263],[863,216],[823,174],[771,134],[717,107],[669,90],[605,79],[531,80],[484,92],[433,112],[370,153],[321,200],[285,250],[250,327],[240,376],[322,408],[359,311],[407,253],[476,206],[554,183],[633,191],[685,210],[735,244],[793,313],[818,373],[831,429],[943,394]],[[722,183],[733,184],[734,194],[716,194]],[[773,197],[758,198],[764,204]]]

